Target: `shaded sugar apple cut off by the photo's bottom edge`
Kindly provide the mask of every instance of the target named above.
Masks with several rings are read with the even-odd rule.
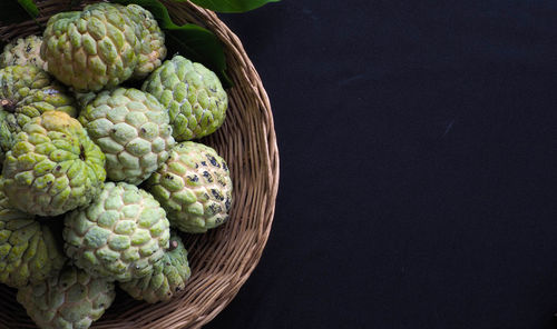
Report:
[[[18,301],[42,329],[87,329],[110,307],[114,283],[75,267],[18,290]]]

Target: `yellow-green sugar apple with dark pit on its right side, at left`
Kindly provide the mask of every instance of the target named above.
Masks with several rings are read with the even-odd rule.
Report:
[[[65,112],[47,111],[16,134],[2,175],[13,207],[58,216],[88,205],[100,192],[105,154],[79,121]]]

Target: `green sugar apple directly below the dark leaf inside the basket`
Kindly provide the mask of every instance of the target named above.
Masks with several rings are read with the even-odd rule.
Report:
[[[182,56],[165,61],[145,80],[141,89],[154,94],[168,110],[176,141],[213,133],[226,117],[228,97],[217,76]]]

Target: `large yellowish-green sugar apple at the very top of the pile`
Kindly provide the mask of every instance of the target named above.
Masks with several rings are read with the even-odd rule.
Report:
[[[136,27],[119,8],[95,3],[52,16],[41,47],[48,71],[76,91],[113,88],[131,77],[137,66]]]

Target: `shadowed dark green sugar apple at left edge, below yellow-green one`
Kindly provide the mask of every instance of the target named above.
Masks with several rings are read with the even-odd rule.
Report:
[[[65,260],[50,229],[9,203],[0,177],[0,282],[16,288],[39,282]]]

